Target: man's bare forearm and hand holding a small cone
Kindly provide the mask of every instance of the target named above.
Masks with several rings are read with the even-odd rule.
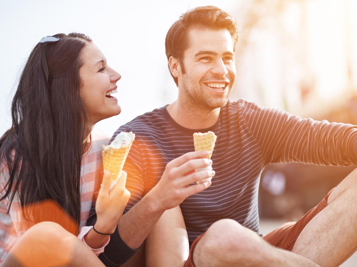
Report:
[[[210,159],[205,158],[207,155],[207,151],[188,152],[167,163],[159,183],[122,216],[118,230],[121,239],[130,248],[135,249],[144,242],[165,210],[175,208],[185,198],[211,185],[209,181],[189,186],[215,175],[214,171],[194,172],[212,164]]]

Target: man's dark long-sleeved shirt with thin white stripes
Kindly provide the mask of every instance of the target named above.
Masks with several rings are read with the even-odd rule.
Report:
[[[228,102],[208,129],[178,125],[165,106],[120,127],[111,140],[121,131],[136,135],[124,166],[131,193],[126,211],[156,185],[169,161],[194,151],[194,132],[217,135],[211,158],[216,172],[212,185],[180,205],[190,245],[215,221],[225,218],[260,234],[258,187],[269,163],[357,164],[353,150],[357,126],[302,119],[243,99]]]

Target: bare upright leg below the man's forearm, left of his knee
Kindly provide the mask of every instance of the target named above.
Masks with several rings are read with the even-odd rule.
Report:
[[[147,236],[147,267],[179,267],[185,264],[190,248],[180,206],[166,210]]]

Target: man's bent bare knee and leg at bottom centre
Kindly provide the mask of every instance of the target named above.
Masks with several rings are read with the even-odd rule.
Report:
[[[273,247],[230,219],[211,225],[195,247],[193,262],[196,267],[318,266],[301,255]]]

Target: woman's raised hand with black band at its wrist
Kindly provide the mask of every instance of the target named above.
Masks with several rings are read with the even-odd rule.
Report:
[[[130,192],[125,188],[126,176],[126,172],[121,171],[118,182],[110,190],[112,173],[104,170],[102,186],[95,204],[97,214],[95,230],[107,234],[115,231],[130,198]]]

